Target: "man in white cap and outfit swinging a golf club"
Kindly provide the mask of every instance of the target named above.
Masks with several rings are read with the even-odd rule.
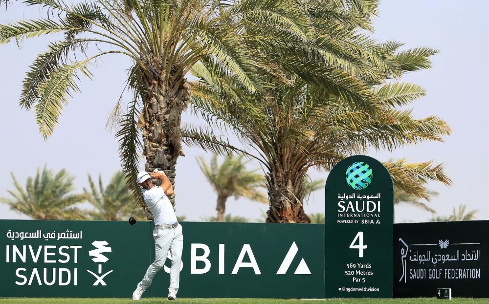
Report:
[[[150,176],[151,175],[151,176]],[[153,185],[151,177],[162,181],[161,187]],[[183,250],[182,226],[178,224],[173,206],[168,199],[172,195],[172,183],[163,171],[148,174],[139,172],[136,181],[142,187],[142,196],[146,205],[155,217],[155,261],[148,267],[143,280],[137,284],[133,292],[133,300],[139,300],[141,295],[151,285],[156,273],[163,268],[168,250],[172,254],[172,268],[170,271],[170,287],[168,300],[177,300],[178,284],[180,280],[180,261]]]

